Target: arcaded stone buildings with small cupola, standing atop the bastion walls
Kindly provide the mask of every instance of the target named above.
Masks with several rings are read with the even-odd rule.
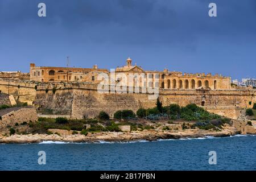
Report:
[[[138,65],[133,65],[130,57],[126,60],[126,65],[117,67],[114,70],[115,84],[122,82],[123,85],[133,85],[148,88],[162,89],[198,89],[201,86],[212,90],[229,90],[231,78],[208,73],[182,73],[175,71],[144,71]],[[65,68],[65,67],[35,67],[30,64],[30,80],[37,82],[92,82],[100,83],[97,79],[101,73],[112,72],[108,69],[93,68]],[[123,77],[125,75],[125,77]],[[132,76],[132,77],[131,77]],[[126,79],[126,80],[124,80]]]

